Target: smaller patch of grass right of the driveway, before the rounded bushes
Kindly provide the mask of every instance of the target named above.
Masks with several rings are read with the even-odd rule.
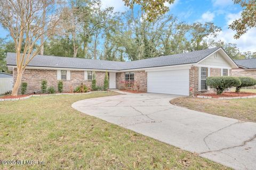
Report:
[[[256,122],[256,98],[221,100],[181,97],[170,102],[195,111]]]

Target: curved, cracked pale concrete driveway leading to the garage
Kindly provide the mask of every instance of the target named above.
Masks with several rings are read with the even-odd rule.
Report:
[[[72,107],[235,169],[256,168],[256,123],[171,105],[175,97],[129,94],[85,99]]]

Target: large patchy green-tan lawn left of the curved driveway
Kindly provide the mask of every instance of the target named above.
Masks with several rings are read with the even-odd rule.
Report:
[[[0,102],[0,159],[45,162],[0,169],[228,169],[71,107],[81,99],[111,95],[117,94]]]

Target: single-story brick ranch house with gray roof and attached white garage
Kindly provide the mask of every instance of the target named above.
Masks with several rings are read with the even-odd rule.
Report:
[[[7,53],[7,66],[17,77],[16,57]],[[29,63],[22,81],[28,83],[28,92],[41,89],[41,81],[57,88],[63,80],[65,92],[81,83],[91,86],[95,73],[98,86],[103,86],[105,72],[109,73],[109,88],[122,89],[122,81],[135,81],[140,91],[161,94],[189,95],[209,90],[206,77],[230,75],[236,63],[221,47],[195,52],[148,58],[131,62],[89,60],[84,58],[38,55]]]

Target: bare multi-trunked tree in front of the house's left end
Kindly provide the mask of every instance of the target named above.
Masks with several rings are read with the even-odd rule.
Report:
[[[17,79],[13,86],[12,96],[18,94],[22,74],[26,66],[40,52],[44,42],[54,35],[57,30],[61,5],[59,1],[58,3],[56,1],[0,1],[0,23],[5,29],[9,30],[15,44]],[[47,16],[45,21],[43,21],[44,8]],[[44,37],[44,40],[40,41],[42,37]]]

